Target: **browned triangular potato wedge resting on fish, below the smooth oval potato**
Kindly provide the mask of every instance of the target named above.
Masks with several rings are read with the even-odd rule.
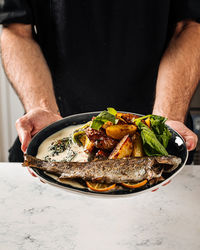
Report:
[[[108,159],[121,159],[129,157],[133,152],[133,143],[129,135],[125,135],[113,149]]]

